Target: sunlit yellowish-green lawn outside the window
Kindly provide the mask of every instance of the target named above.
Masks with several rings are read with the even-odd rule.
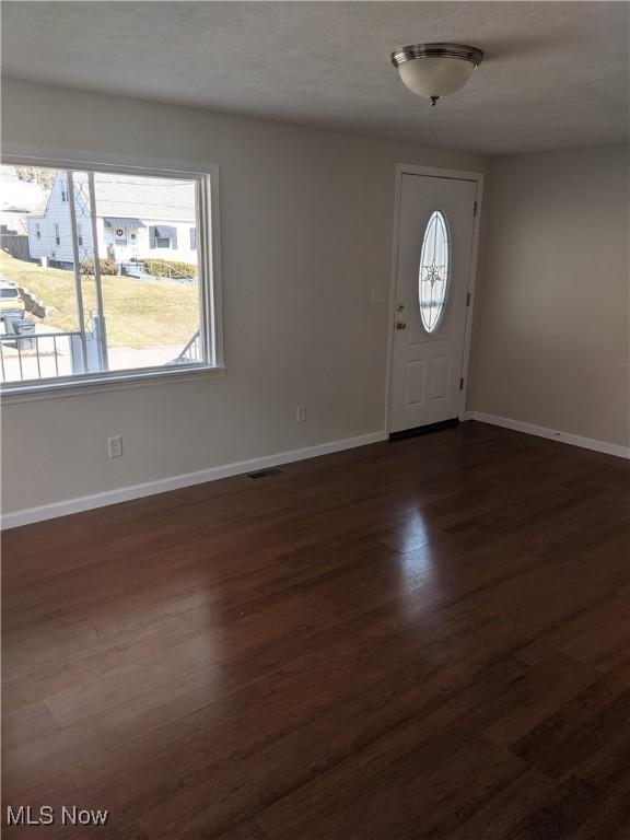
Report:
[[[36,322],[61,330],[78,328],[72,271],[42,268],[0,250],[0,276],[25,287],[44,302],[48,314]],[[197,283],[103,276],[102,285],[110,347],[185,345],[199,326]],[[83,278],[82,289],[88,313],[95,308],[94,279]]]

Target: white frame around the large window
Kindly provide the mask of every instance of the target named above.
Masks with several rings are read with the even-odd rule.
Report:
[[[205,362],[191,362],[172,368],[138,368],[125,371],[106,371],[79,376],[56,376],[48,380],[30,380],[0,384],[2,402],[21,402],[32,399],[66,397],[110,389],[137,388],[183,382],[201,376],[222,376],[225,372],[223,358],[223,320],[221,293],[221,257],[219,233],[219,167],[209,164],[198,170],[154,168],[130,166],[122,163],[95,163],[77,160],[34,158],[22,154],[3,154],[1,164],[42,166],[79,172],[112,172],[126,175],[143,175],[173,179],[194,180],[196,184],[197,250],[199,267],[199,337]]]

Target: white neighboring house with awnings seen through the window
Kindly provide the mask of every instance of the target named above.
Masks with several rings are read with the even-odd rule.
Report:
[[[77,207],[79,258],[92,256],[92,219],[86,184]],[[164,178],[98,173],[95,176],[98,256],[116,262],[163,258],[197,262],[194,185]],[[55,266],[74,262],[70,196],[66,173],[59,171],[46,199],[27,217],[31,258]]]

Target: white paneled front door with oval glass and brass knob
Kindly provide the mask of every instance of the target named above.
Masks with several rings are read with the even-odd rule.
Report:
[[[401,175],[389,431],[457,418],[477,183]]]

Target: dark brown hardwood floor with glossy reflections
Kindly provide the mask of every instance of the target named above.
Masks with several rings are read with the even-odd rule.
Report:
[[[630,464],[474,422],[8,532],[3,837],[630,837],[629,596]]]

